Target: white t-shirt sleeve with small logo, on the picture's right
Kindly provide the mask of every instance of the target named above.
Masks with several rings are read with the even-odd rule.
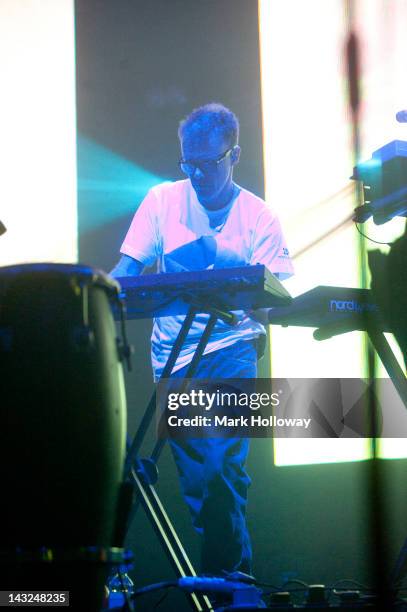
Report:
[[[250,263],[267,266],[280,280],[294,274],[280,221],[270,209],[265,208],[257,219]]]

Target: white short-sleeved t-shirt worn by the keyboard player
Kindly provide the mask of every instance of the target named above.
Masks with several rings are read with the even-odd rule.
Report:
[[[145,265],[158,260],[158,272],[181,272],[264,264],[279,279],[293,267],[278,218],[269,206],[238,187],[231,203],[208,211],[198,201],[189,179],[153,187],[137,209],[121,253]],[[265,333],[264,327],[239,311],[237,325],[218,321],[205,354]],[[174,371],[187,365],[195,352],[206,314],[195,318]],[[184,316],[154,320],[152,364],[157,379],[168,359]]]

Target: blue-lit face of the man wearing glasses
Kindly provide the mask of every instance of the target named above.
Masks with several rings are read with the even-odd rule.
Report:
[[[216,162],[230,149],[233,150],[219,163],[205,163]],[[238,146],[231,147],[225,142],[220,133],[185,133],[181,141],[182,159],[197,164],[188,176],[202,206],[216,209],[228,203],[233,193],[233,166],[239,159],[239,151]]]

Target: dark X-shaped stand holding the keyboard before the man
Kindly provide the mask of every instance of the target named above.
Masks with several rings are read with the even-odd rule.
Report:
[[[218,319],[222,319],[226,323],[232,324],[235,322],[235,315],[226,310],[221,310],[207,305],[198,305],[191,302],[190,307],[184,322],[179,331],[178,337],[174,342],[167,363],[161,374],[160,380],[169,378],[174,369],[177,358],[181,352],[182,346],[187,338],[188,332],[194,322],[195,316],[198,313],[209,314],[209,319],[206,327],[199,340],[198,346],[194,353],[193,359],[189,365],[185,380],[193,378],[201,357],[204,353],[209,337]],[[186,384],[186,383],[185,383]],[[180,539],[177,536],[174,526],[172,525],[164,506],[162,505],[158,494],[154,488],[154,483],[158,478],[157,461],[165,445],[165,440],[160,439],[150,455],[149,459],[140,459],[139,452],[144,441],[145,435],[150,427],[151,421],[156,412],[156,391],[153,393],[148,406],[144,412],[141,423],[131,442],[126,462],[125,462],[125,478],[134,486],[136,492],[136,500],[130,510],[129,518],[126,525],[126,533],[135,517],[136,511],[141,504],[146,512],[148,519],[161,543],[164,552],[179,577],[196,576],[194,567],[184,550]],[[189,602],[193,610],[197,612],[205,612],[212,610],[212,605],[206,595],[201,593],[191,593],[188,595]]]

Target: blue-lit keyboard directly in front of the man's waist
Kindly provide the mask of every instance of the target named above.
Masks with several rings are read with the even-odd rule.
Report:
[[[168,274],[142,274],[116,279],[127,319],[183,315],[191,304],[226,311],[282,306],[291,296],[263,265]],[[117,318],[118,313],[114,310]]]

